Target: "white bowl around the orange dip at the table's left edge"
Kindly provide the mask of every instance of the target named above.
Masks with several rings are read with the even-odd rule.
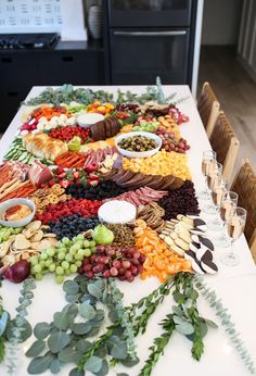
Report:
[[[31,200],[27,200],[27,199],[18,199],[17,198],[17,199],[11,199],[11,200],[7,200],[4,202],[1,202],[0,203],[0,215],[2,213],[4,213],[9,208],[12,208],[12,206],[18,205],[18,204],[27,205],[31,210],[31,214],[29,214],[25,218],[22,218],[18,221],[0,220],[0,225],[7,226],[7,227],[23,227],[23,226],[26,226],[29,222],[31,222],[31,220],[35,216],[36,206]]]

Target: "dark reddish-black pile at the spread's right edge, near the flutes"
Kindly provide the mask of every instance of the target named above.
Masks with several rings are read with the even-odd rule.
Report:
[[[197,215],[200,213],[194,185],[190,180],[185,180],[180,188],[170,190],[168,196],[158,201],[158,204],[165,210],[165,220],[176,218],[178,214]]]

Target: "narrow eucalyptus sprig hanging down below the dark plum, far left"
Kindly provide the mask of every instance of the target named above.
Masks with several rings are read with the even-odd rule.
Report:
[[[9,338],[7,368],[9,375],[14,375],[18,362],[18,344],[22,342],[22,335],[25,330],[25,317],[27,316],[27,308],[31,304],[36,288],[34,278],[29,277],[24,280],[21,290],[21,298],[18,299],[20,305],[16,311],[17,314],[12,323],[11,338]]]

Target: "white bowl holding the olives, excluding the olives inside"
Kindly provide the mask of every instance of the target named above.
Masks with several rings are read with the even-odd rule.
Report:
[[[118,146],[118,143],[125,138],[133,137],[133,136],[145,136],[148,138],[152,138],[156,142],[157,148],[148,150],[148,151],[129,151],[129,150],[121,149]],[[150,131],[129,131],[127,134],[117,136],[115,138],[115,145],[121,155],[125,155],[127,158],[146,158],[146,156],[152,156],[159,151],[162,147],[162,139],[155,134],[152,134]]]

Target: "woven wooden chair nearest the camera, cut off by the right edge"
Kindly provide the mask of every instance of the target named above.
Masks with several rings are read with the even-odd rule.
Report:
[[[256,174],[248,160],[243,161],[231,190],[239,195],[239,206],[247,211],[244,235],[256,263]]]

